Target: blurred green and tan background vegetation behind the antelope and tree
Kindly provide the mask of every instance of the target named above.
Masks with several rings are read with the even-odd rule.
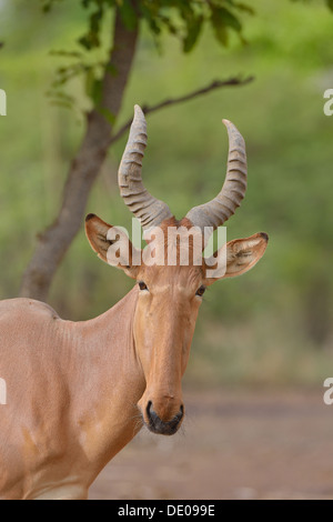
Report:
[[[190,54],[181,52],[183,41],[163,31],[161,52],[144,26],[122,121],[134,103],[155,103],[215,78],[255,76],[246,87],[150,116],[143,179],[181,218],[219,191],[228,152],[221,119],[238,126],[246,141],[249,189],[226,223],[228,239],[265,231],[270,243],[255,269],[206,292],[186,379],[321,385],[333,363],[333,117],[323,113],[323,93],[333,88],[333,16],[324,1],[253,0],[251,7],[255,16],[242,13],[243,39],[231,32],[228,49],[206,26]],[[8,97],[8,116],[0,117],[0,297],[6,299],[18,293],[37,232],[54,219],[90,101],[78,76],[65,90],[74,111],[47,96],[54,70],[72,60],[50,51],[80,52],[75,42],[87,31],[87,13],[78,3],[56,2],[46,14],[37,2],[2,1],[0,30],[0,88]],[[91,57],[103,60],[103,46]],[[130,228],[117,187],[125,139],[110,150],[87,212]],[[132,284],[95,258],[82,223],[50,303],[62,317],[83,320],[110,308]]]

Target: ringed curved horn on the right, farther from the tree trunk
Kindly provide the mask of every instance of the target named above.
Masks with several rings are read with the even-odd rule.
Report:
[[[212,227],[215,230],[223,224],[240,207],[246,191],[248,167],[244,139],[231,121],[222,121],[229,134],[225,181],[216,198],[194,207],[186,214],[186,218],[202,231],[204,227]]]

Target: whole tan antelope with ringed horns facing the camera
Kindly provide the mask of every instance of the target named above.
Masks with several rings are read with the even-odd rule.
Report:
[[[144,230],[213,230],[234,213],[246,189],[245,145],[223,121],[230,148],[222,190],[176,221],[142,184],[147,132],[135,106],[119,187]],[[184,416],[181,379],[202,294],[216,279],[251,269],[268,243],[265,233],[226,243],[225,273],[208,278],[202,255],[199,264],[179,262],[181,235],[175,265],[148,265],[134,264],[128,237],[98,217],[87,217],[85,230],[98,255],[137,283],[111,310],[85,322],[64,321],[31,299],[0,302],[0,377],[7,384],[7,404],[0,405],[2,499],[85,499],[102,468],[143,424],[154,433],[175,433]],[[128,260],[119,249],[110,261],[117,241],[129,247]],[[153,255],[165,245],[165,239],[154,242]]]

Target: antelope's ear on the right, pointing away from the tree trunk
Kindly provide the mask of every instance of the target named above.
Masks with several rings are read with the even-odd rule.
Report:
[[[252,269],[263,257],[269,242],[265,232],[259,232],[250,238],[234,239],[224,244],[205,263],[205,284],[224,278],[234,278]]]

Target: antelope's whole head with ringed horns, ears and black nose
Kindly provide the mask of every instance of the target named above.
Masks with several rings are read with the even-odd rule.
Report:
[[[143,421],[154,433],[175,433],[183,419],[181,379],[206,287],[218,279],[240,275],[250,270],[263,255],[268,244],[265,233],[230,241],[215,254],[216,260],[224,254],[224,270],[213,277],[208,275],[211,274],[212,263],[202,257],[204,230],[210,228],[212,232],[222,225],[241,204],[246,190],[244,140],[230,121],[223,120],[223,123],[228,129],[230,147],[222,190],[212,201],[193,208],[178,221],[169,207],[153,198],[142,183],[147,124],[142,110],[135,106],[119,169],[119,187],[125,204],[149,237],[147,249],[138,251],[124,232],[93,214],[87,217],[85,230],[92,249],[102,260],[138,281],[133,338],[145,378],[145,391],[138,405]],[[190,229],[189,240],[186,232]],[[168,239],[171,230],[176,232],[173,244]],[[198,240],[201,245],[199,262],[198,253],[194,253]],[[181,262],[184,249],[189,254],[186,263]],[[168,262],[170,257],[173,263]]]

